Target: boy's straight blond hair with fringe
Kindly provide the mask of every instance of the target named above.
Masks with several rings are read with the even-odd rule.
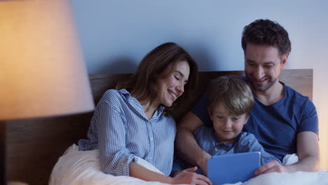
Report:
[[[217,104],[224,104],[230,115],[250,115],[254,106],[252,90],[242,78],[237,76],[221,76],[210,82],[208,92],[208,108],[212,114]]]

